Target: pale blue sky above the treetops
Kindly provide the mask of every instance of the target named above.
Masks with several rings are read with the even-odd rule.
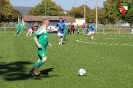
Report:
[[[34,7],[42,0],[9,0],[13,6]],[[53,0],[57,5],[60,5],[64,10],[71,10],[72,7],[83,5],[85,0]],[[98,0],[98,6],[103,7],[103,2],[106,0]],[[95,8],[96,0],[86,0],[86,4],[91,8]]]

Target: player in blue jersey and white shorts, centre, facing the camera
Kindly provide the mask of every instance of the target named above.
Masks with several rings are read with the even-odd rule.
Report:
[[[57,23],[56,27],[58,28],[58,38],[59,38],[59,45],[62,45],[63,42],[63,36],[64,36],[64,28],[65,24],[63,22],[63,19],[59,19],[59,23]]]

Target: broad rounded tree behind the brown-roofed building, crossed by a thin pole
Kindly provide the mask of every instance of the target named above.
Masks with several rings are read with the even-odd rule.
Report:
[[[30,10],[29,15],[44,16],[45,13],[47,16],[59,16],[63,13],[63,9],[52,0],[42,0]]]

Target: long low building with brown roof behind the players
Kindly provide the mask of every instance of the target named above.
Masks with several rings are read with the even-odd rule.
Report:
[[[71,17],[71,16],[29,16],[29,15],[24,15],[23,16],[23,21],[26,24],[29,24],[31,22],[34,23],[35,26],[40,26],[42,19],[49,19],[49,27],[48,29],[55,29],[56,24],[59,22],[59,18],[62,18],[63,20],[67,20],[68,23],[74,23],[75,22],[75,18]]]

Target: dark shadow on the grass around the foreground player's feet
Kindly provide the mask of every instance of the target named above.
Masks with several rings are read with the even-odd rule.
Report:
[[[52,71],[54,68],[49,68],[46,70],[41,71],[42,75],[39,75],[38,77],[32,77],[28,74],[29,68],[27,68],[28,65],[31,65],[33,63],[29,61],[17,61],[12,63],[4,63],[0,62],[0,76],[3,77],[6,81],[18,81],[18,80],[26,80],[26,79],[42,79],[45,77],[52,77],[49,76],[49,72]]]

